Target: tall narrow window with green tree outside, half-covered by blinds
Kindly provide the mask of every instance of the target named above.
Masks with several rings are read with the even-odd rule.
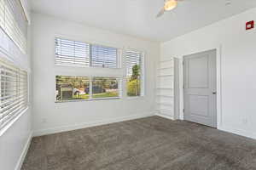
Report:
[[[127,96],[143,95],[143,54],[133,50],[125,53]]]

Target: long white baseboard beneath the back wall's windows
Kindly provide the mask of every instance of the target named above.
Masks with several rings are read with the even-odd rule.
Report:
[[[34,131],[33,136],[36,137],[36,136],[43,136],[43,135],[52,134],[52,133],[67,132],[67,131],[77,130],[81,128],[86,128],[86,127],[96,127],[100,125],[110,124],[113,122],[124,122],[124,121],[133,120],[133,119],[148,117],[148,116],[154,116],[154,113],[123,116],[123,117],[112,118],[112,119],[96,121],[96,122],[84,122],[84,123],[76,124],[72,126],[48,128],[48,129]]]

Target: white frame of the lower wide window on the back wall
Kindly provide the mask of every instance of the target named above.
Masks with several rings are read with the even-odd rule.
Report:
[[[89,79],[89,99],[69,99],[69,100],[57,100],[55,96],[55,103],[67,103],[67,102],[80,102],[80,101],[94,101],[94,100],[108,100],[108,99],[121,99],[122,98],[122,77],[107,77],[107,76],[102,76],[103,78],[114,78],[118,82],[118,91],[119,91],[119,96],[117,97],[108,97],[108,98],[93,98],[92,94],[92,82],[94,78],[101,77],[101,76],[70,76],[70,75],[55,75],[55,87],[56,87],[56,76],[63,76],[63,77],[86,77]],[[55,88],[56,91],[56,88]]]

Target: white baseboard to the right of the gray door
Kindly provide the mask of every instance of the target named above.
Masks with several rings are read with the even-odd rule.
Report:
[[[230,127],[230,126],[220,126],[218,127],[218,130],[224,131],[224,132],[228,132],[228,133],[235,133],[250,139],[256,139],[256,133],[255,132],[250,132],[247,130],[243,130],[243,129],[237,129],[234,127]]]

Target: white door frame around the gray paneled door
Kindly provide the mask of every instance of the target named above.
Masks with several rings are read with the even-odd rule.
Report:
[[[219,45],[219,46],[215,46],[215,47],[212,47],[212,48],[203,48],[203,49],[198,49],[198,50],[195,50],[195,51],[191,51],[189,53],[186,53],[186,54],[183,54],[182,55],[182,59],[181,59],[181,63],[180,63],[180,119],[183,120],[184,119],[184,113],[183,113],[183,109],[184,109],[184,93],[183,93],[183,76],[184,76],[184,73],[183,73],[183,59],[184,59],[184,56],[187,56],[187,55],[190,55],[190,54],[197,54],[197,53],[201,53],[201,52],[207,52],[209,50],[213,50],[215,49],[216,50],[216,78],[217,78],[217,84],[216,84],[216,89],[217,89],[217,103],[216,103],[216,111],[217,111],[217,129],[220,129],[222,127],[222,77],[223,77],[223,71],[222,71],[222,68],[223,68],[223,60],[222,60],[222,53],[221,53],[221,49],[222,49],[222,46]]]

